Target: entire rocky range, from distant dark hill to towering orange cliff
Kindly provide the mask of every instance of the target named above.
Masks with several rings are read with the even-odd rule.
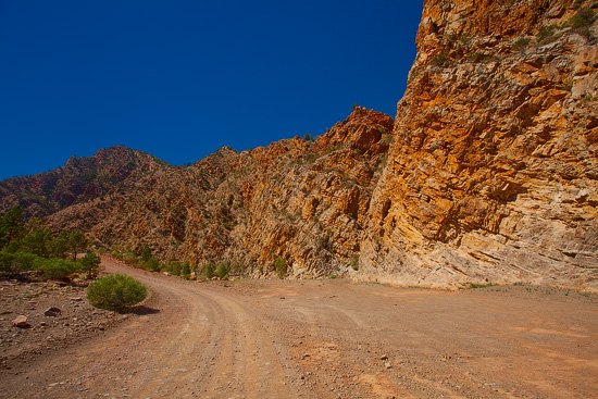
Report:
[[[0,210],[252,275],[598,290],[598,3],[426,0],[396,123],[357,108],[188,167],[125,148],[0,183]]]

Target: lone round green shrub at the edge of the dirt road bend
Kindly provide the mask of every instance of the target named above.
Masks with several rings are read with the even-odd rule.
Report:
[[[129,307],[147,297],[147,288],[135,278],[115,274],[94,282],[87,288],[87,299],[96,308],[125,312]]]

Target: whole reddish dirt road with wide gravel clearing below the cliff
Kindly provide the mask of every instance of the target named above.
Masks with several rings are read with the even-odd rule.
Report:
[[[10,398],[590,398],[598,297],[345,280],[147,284],[140,314],[0,374]]]

